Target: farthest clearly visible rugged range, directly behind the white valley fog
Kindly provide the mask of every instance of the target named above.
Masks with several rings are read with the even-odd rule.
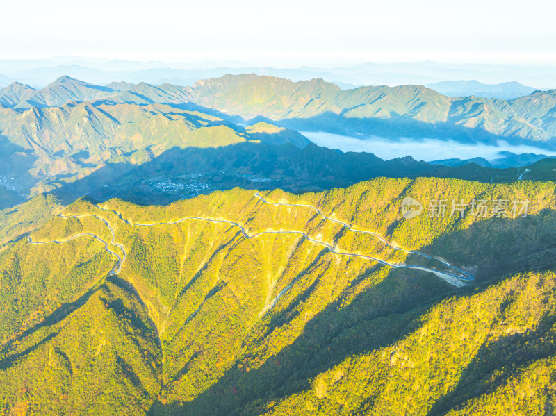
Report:
[[[12,84],[0,104],[15,110],[70,101],[202,106],[232,122],[277,122],[296,130],[351,135],[446,138],[467,142],[535,142],[554,146],[555,90],[514,100],[445,97],[420,85],[341,90],[322,80],[241,75],[198,81],[193,87],[111,83],[99,86],[67,76],[41,90]]]

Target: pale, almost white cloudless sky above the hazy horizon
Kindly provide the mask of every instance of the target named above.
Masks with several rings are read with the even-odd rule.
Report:
[[[556,64],[553,0],[3,1],[0,59]]]

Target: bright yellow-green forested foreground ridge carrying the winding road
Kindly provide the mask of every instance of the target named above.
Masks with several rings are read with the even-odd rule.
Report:
[[[122,270],[108,276],[117,258],[90,235],[0,249],[3,411],[543,414],[555,381],[555,186],[378,178],[318,194],[261,192],[282,205],[237,188],[168,206],[76,201],[64,215],[102,220],[52,217],[31,241],[95,233],[120,255],[113,242],[122,244]],[[404,219],[409,196],[425,212]],[[439,198],[527,199],[530,210],[429,217],[427,201]],[[302,231],[345,251],[419,261],[285,203],[443,258],[475,281],[454,288],[300,234],[255,237]],[[197,218],[149,226],[183,217]]]

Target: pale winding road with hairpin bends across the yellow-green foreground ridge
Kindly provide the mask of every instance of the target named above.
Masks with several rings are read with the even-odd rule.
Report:
[[[415,254],[418,256],[423,256],[425,258],[429,258],[432,260],[436,260],[439,263],[442,263],[443,265],[445,265],[446,267],[455,270],[457,272],[457,274],[451,274],[451,273],[447,273],[447,272],[440,272],[439,270],[436,269],[430,269],[429,267],[423,267],[423,266],[419,266],[419,265],[406,265],[404,263],[390,263],[386,260],[382,260],[380,258],[376,258],[373,256],[367,256],[365,254],[359,254],[359,253],[347,253],[347,252],[343,252],[343,251],[337,251],[334,246],[332,246],[332,244],[329,244],[327,242],[323,242],[320,240],[316,240],[314,238],[309,237],[309,235],[306,235],[306,233],[304,233],[303,231],[297,231],[297,230],[273,230],[273,231],[260,231],[259,233],[254,233],[252,235],[247,234],[247,231],[245,231],[245,227],[241,224],[238,224],[237,222],[234,221],[230,221],[228,219],[213,219],[213,218],[207,218],[207,217],[183,217],[180,219],[177,219],[175,221],[172,222],[153,222],[150,224],[143,224],[143,223],[139,223],[139,222],[131,222],[129,221],[129,219],[125,219],[124,217],[122,217],[122,215],[120,215],[120,213],[117,213],[115,210],[110,210],[108,208],[102,208],[101,206],[96,206],[97,208],[107,211],[107,212],[111,212],[114,213],[115,215],[117,215],[117,217],[119,217],[122,222],[125,222],[126,224],[132,225],[132,226],[158,226],[158,225],[172,225],[172,224],[179,224],[180,222],[184,222],[184,221],[188,221],[190,219],[194,219],[194,220],[198,220],[198,221],[208,221],[208,222],[213,222],[213,223],[223,223],[223,224],[230,224],[231,226],[236,226],[238,228],[240,228],[241,233],[243,234],[243,236],[247,239],[249,238],[256,238],[259,235],[264,235],[264,234],[297,234],[302,236],[303,238],[305,238],[306,240],[313,242],[313,244],[320,244],[324,247],[326,247],[331,253],[334,253],[338,256],[347,256],[347,257],[359,257],[359,258],[363,258],[366,260],[373,260],[377,263],[380,263],[382,265],[386,265],[389,267],[393,267],[393,268],[404,268],[404,269],[418,269],[418,270],[422,270],[424,272],[431,272],[433,274],[436,274],[436,276],[439,276],[440,278],[442,278],[444,281],[450,283],[451,285],[455,285],[457,287],[461,287],[464,286],[464,282],[463,281],[473,281],[474,280],[474,276],[472,274],[469,274],[468,272],[464,272],[464,270],[461,270],[457,267],[454,267],[452,265],[450,265],[450,263],[446,262],[445,260],[442,260],[440,258],[436,258],[436,257],[432,257],[429,256],[425,253],[421,253],[420,251],[415,251],[415,250],[407,250],[407,249],[402,249],[401,247],[397,247],[394,246],[393,244],[391,244],[388,240],[386,240],[384,237],[382,237],[382,235],[375,233],[374,231],[367,231],[367,230],[358,230],[357,228],[352,228],[352,226],[350,226],[350,224],[347,224],[346,222],[340,221],[338,219],[334,219],[334,218],[330,218],[327,217],[326,215],[324,215],[320,210],[318,210],[318,208],[311,206],[311,205],[304,205],[304,204],[296,204],[296,203],[276,203],[276,202],[270,202],[267,201],[266,199],[264,199],[259,192],[256,192],[255,197],[257,197],[260,201],[262,201],[263,203],[268,203],[269,205],[275,205],[275,206],[291,206],[291,207],[305,207],[305,208],[311,208],[312,210],[315,210],[316,213],[318,213],[318,215],[321,215],[323,218],[327,219],[328,221],[331,222],[335,222],[337,224],[341,224],[341,226],[347,228],[348,230],[354,232],[354,233],[365,233],[365,234],[370,234],[370,235],[374,235],[376,238],[378,238],[381,242],[384,242],[384,244],[388,245],[389,247],[391,247],[394,250],[399,250],[399,251],[404,251],[405,253],[409,253],[409,254]],[[28,240],[31,244],[47,244],[47,243],[55,243],[55,244],[62,244],[64,242],[69,242],[71,240],[75,240],[76,238],[79,238],[81,236],[85,236],[85,235],[91,235],[92,237],[96,238],[97,240],[99,240],[100,242],[104,243],[104,248],[108,253],[111,253],[113,256],[115,256],[117,258],[117,264],[115,265],[115,267],[111,270],[111,272],[109,274],[118,274],[120,273],[120,271],[122,270],[122,264],[124,263],[124,261],[126,260],[127,257],[127,252],[125,250],[125,247],[123,246],[123,244],[120,244],[119,242],[115,241],[115,232],[112,228],[112,226],[108,223],[108,221],[106,221],[106,219],[99,217],[98,215],[94,215],[94,214],[79,214],[79,215],[59,215],[60,217],[63,218],[70,218],[70,217],[74,217],[74,218],[81,218],[81,217],[95,217],[97,219],[100,219],[102,222],[104,222],[104,224],[106,224],[106,226],[108,226],[108,229],[111,231],[112,233],[112,240],[111,240],[111,244],[115,245],[116,247],[120,248],[120,250],[122,251],[122,256],[120,256],[119,254],[115,253],[114,251],[112,251],[111,249],[108,248],[108,243],[104,240],[102,240],[101,238],[99,238],[98,235],[95,235],[94,233],[79,233],[76,235],[73,235],[70,238],[67,238],[65,240],[50,240],[50,241],[44,241],[44,242],[36,242],[33,241],[31,239],[31,237],[28,237]]]

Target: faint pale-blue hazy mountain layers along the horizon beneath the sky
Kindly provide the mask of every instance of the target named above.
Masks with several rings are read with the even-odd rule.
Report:
[[[0,87],[13,81],[42,88],[51,80],[63,75],[86,79],[106,85],[114,80],[131,83],[146,82],[160,85],[172,83],[193,85],[204,78],[218,78],[225,74],[270,75],[301,81],[322,78],[341,88],[360,85],[427,85],[453,80],[478,80],[484,84],[517,81],[534,88],[554,88],[554,65],[489,65],[455,64],[423,61],[415,63],[311,63],[292,62],[271,66],[272,63],[247,63],[241,61],[195,62],[133,62],[129,60],[101,60],[79,56],[61,56],[46,59],[0,60]],[[500,97],[499,97],[500,98]]]

